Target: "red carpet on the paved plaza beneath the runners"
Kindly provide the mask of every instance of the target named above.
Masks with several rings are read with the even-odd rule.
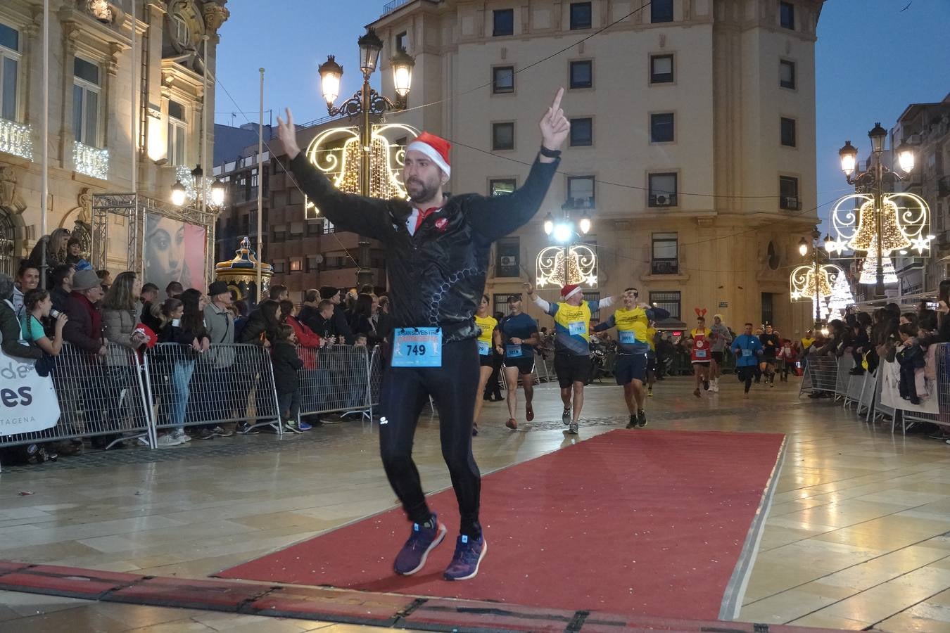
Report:
[[[485,476],[488,552],[471,581],[442,580],[458,531],[451,490],[429,497],[449,534],[414,576],[392,572],[409,532],[398,508],[218,575],[716,619],[783,438],[621,430]]]

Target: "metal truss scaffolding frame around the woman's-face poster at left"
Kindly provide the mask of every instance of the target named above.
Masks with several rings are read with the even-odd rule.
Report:
[[[125,224],[125,270],[143,274],[142,254],[145,251],[145,216],[158,214],[188,224],[204,227],[204,278],[214,271],[214,239],[218,214],[201,211],[198,206],[166,207],[152,197],[129,193],[92,195],[91,264],[96,270],[108,268],[108,233],[110,217],[121,217]]]

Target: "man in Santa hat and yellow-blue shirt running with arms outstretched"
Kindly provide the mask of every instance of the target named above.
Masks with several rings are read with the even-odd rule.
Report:
[[[535,295],[530,283],[524,286],[535,305],[554,317],[554,371],[558,374],[564,403],[561,421],[567,425],[568,433],[577,435],[580,409],[584,405],[584,385],[591,378],[591,315],[601,308],[613,306],[615,298],[587,301],[580,286],[568,284],[561,288],[561,302],[549,304]]]

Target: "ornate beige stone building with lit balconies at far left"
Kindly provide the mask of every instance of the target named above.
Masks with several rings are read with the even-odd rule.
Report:
[[[202,37],[213,75],[226,2],[50,0],[47,233],[80,235],[87,256],[98,239],[94,264],[125,270],[133,251],[141,265],[124,217],[109,215],[96,237],[91,217],[93,195],[132,189],[132,29],[138,194],[157,200],[140,205],[161,205],[178,167],[203,162],[210,172],[200,156],[201,114],[214,112]],[[43,52],[43,2],[0,3],[0,270],[10,273],[41,236]]]

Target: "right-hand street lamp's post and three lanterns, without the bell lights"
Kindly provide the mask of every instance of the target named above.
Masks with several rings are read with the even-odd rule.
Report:
[[[883,208],[884,208],[884,193],[883,193],[883,183],[884,177],[890,176],[896,180],[902,180],[904,176],[901,176],[897,172],[891,170],[889,167],[883,164],[881,156],[884,151],[884,139],[887,136],[887,130],[885,130],[880,122],[874,123],[874,128],[867,133],[868,138],[871,140],[871,160],[867,165],[867,169],[861,171],[858,169],[858,150],[854,145],[851,144],[850,140],[845,141],[845,146],[841,148],[838,152],[838,156],[841,157],[841,170],[845,172],[845,179],[850,185],[861,186],[866,190],[870,190],[874,196],[874,220],[875,220],[875,231],[877,233],[877,252],[875,253],[877,257],[877,279],[874,286],[874,298],[883,299],[885,298],[884,294],[884,268],[883,268]],[[902,142],[895,151],[898,155],[898,164],[901,166],[902,172],[904,174],[909,174],[914,169],[914,152],[911,150],[910,146],[907,143]]]

